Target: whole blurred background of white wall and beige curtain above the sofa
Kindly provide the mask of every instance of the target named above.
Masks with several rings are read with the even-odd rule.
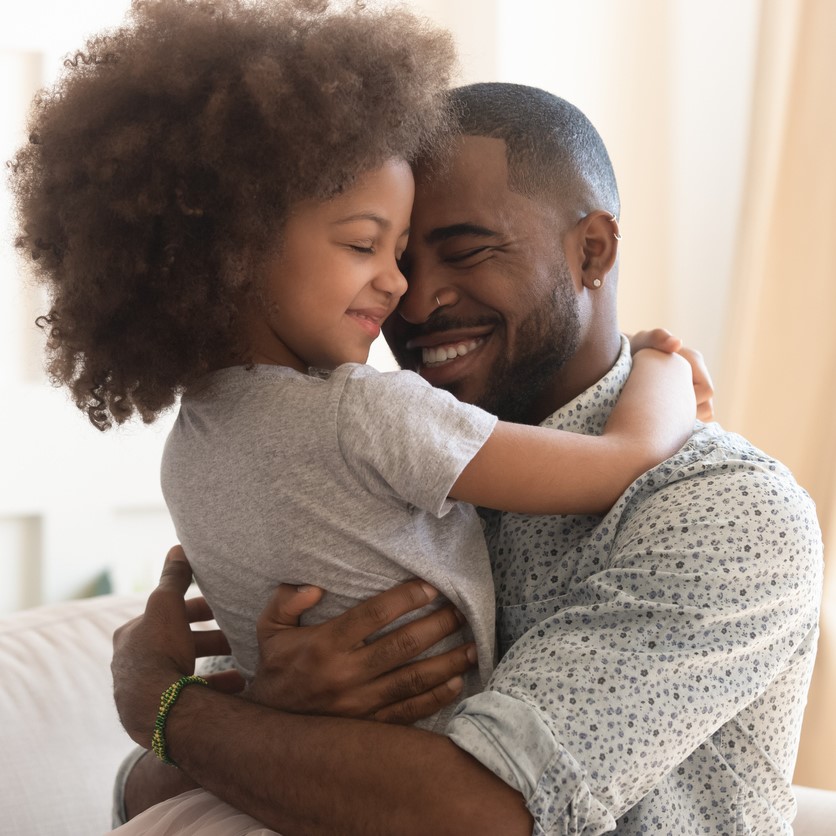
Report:
[[[413,0],[454,33],[460,81],[578,105],[619,178],[621,325],[702,350],[717,417],[783,460],[836,545],[836,3]],[[0,156],[32,95],[127,0],[0,8]],[[0,192],[0,613],[153,585],[174,531],[159,490],[173,416],[94,430],[42,371],[47,310]],[[372,362],[391,359],[375,346]],[[836,789],[836,588],[796,780]]]

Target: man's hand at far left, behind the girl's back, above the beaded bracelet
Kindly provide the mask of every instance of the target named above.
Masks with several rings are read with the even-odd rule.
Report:
[[[184,600],[192,570],[180,546],[165,559],[157,588],[148,598],[145,612],[113,634],[113,695],[119,719],[128,734],[148,747],[160,695],[181,676],[194,673],[198,656],[222,656],[229,644],[219,630],[195,630],[193,622],[209,621],[212,612],[203,598]],[[223,691],[241,686],[235,674],[210,678]]]

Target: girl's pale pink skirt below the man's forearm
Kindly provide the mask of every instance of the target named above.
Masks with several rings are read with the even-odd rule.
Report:
[[[110,832],[118,836],[279,836],[205,790],[163,801]]]

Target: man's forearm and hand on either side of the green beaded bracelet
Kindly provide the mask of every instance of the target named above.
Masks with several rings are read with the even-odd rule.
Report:
[[[170,553],[145,614],[114,636],[117,708],[142,745],[160,694],[201,652],[183,602],[190,579],[182,552]],[[285,836],[532,829],[519,793],[430,732],[289,714],[191,686],[169,714],[166,741],[187,775]]]

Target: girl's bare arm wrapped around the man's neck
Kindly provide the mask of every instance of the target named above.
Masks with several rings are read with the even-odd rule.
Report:
[[[644,349],[603,435],[500,421],[450,495],[520,514],[602,514],[685,443],[695,415],[688,363]]]

